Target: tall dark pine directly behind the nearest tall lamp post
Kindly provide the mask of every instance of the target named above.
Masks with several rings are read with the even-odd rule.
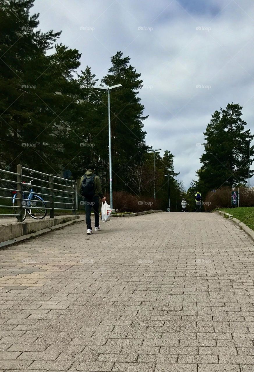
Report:
[[[111,142],[112,142],[112,169],[114,187],[122,187],[125,183],[124,169],[126,164],[134,164],[141,155],[139,144],[145,142],[146,132],[143,131],[144,106],[138,97],[139,87],[142,84],[140,74],[130,64],[129,57],[123,57],[117,52],[111,57],[112,67],[102,79],[107,86],[122,84],[123,88],[111,93]],[[107,137],[107,96],[102,95],[105,119],[102,121],[101,135]],[[104,128],[104,129],[103,129]],[[121,171],[121,174],[120,174]]]

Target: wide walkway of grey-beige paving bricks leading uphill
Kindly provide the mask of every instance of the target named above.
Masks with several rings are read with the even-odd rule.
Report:
[[[217,214],[1,250],[0,371],[253,372],[254,242]]]

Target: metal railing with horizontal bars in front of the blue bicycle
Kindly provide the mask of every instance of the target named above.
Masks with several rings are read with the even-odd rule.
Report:
[[[23,174],[23,171],[25,171],[24,173],[30,174]],[[77,183],[75,181],[54,176],[53,174],[42,173],[34,169],[23,167],[20,164],[17,166],[17,173],[0,169],[0,174],[1,173],[4,173],[5,176],[5,178],[0,178],[1,186],[7,187],[0,187],[0,190],[3,190],[3,193],[5,194],[7,194],[7,192],[13,192],[16,194],[16,213],[0,214],[0,217],[15,216],[18,221],[22,222],[22,214],[24,209],[36,209],[36,206],[31,206],[32,203],[30,203],[36,202],[36,200],[33,199],[33,195],[35,194],[41,196],[43,203],[46,203],[44,204],[46,205],[45,207],[40,206],[39,209],[49,210],[50,218],[54,218],[54,211],[60,210],[72,211],[73,214],[76,214],[78,196]],[[36,178],[32,176],[34,173],[38,175]],[[15,176],[16,180],[6,179],[8,176]],[[36,185],[34,183],[30,184],[24,182],[24,179],[31,178],[33,179],[33,182],[36,182]],[[39,183],[43,183],[43,185],[39,185]],[[24,190],[26,185],[29,185],[29,187],[33,188],[32,199],[27,199],[26,195],[29,195],[31,191]],[[39,189],[40,192],[38,192],[37,189]],[[13,198],[14,196],[0,196],[0,202],[2,199],[10,201],[10,199],[13,200]],[[29,203],[27,203],[27,201],[29,201]],[[13,208],[13,203],[12,205],[0,205],[0,208]]]

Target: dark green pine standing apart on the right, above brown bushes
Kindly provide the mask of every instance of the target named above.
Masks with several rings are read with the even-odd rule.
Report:
[[[250,130],[244,130],[247,123],[241,118],[241,110],[239,104],[230,103],[225,110],[215,111],[207,125],[205,151],[200,158],[202,166],[197,171],[199,188],[205,193],[221,186],[235,186],[248,177],[248,141],[254,136]],[[251,146],[250,157],[253,155],[254,146]]]

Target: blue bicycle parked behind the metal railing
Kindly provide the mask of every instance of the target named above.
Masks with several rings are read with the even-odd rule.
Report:
[[[32,182],[34,180],[31,180],[30,182],[26,183],[23,182],[23,185],[32,186]],[[12,199],[13,203],[13,209],[14,213],[18,214],[18,205],[17,205],[17,195],[18,193],[15,191]],[[25,220],[26,214],[28,213],[29,216],[31,216],[34,219],[42,219],[45,218],[47,215],[47,209],[46,205],[44,203],[44,200],[39,195],[35,195],[32,187],[29,191],[23,192],[22,196],[22,205],[23,205],[23,212],[22,212],[22,221]],[[30,207],[30,208],[29,208]]]

